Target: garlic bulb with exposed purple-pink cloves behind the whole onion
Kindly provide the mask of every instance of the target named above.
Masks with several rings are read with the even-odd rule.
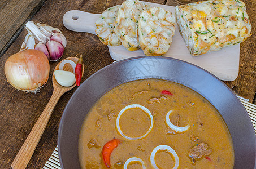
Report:
[[[20,51],[36,49],[44,52],[50,61],[57,61],[62,57],[67,39],[59,29],[33,21],[28,21],[25,28],[28,34]]]

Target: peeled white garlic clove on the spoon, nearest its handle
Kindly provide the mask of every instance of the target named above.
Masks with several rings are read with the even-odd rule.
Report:
[[[75,74],[65,70],[55,70],[54,77],[56,81],[64,87],[70,87],[76,82]]]

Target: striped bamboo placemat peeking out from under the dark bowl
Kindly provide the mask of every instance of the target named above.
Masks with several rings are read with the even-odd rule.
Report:
[[[249,114],[249,117],[251,119],[251,122],[253,123],[254,131],[256,133],[256,105],[249,103],[248,101],[245,101],[244,99],[240,98],[241,103],[244,105],[247,113]],[[51,157],[46,162],[44,169],[60,169],[60,163],[59,163],[59,155],[58,155],[58,146],[53,151],[53,154],[51,154]]]

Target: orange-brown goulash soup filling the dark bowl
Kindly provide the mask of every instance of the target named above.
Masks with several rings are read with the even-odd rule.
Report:
[[[119,114],[125,106],[134,104],[148,109],[150,114],[136,106]],[[166,117],[173,124],[171,127]],[[141,139],[134,139],[149,131],[151,120],[150,132]],[[185,131],[179,131],[181,128]],[[154,168],[150,156],[159,145],[167,145],[176,152],[178,168],[233,168],[232,140],[222,117],[197,92],[170,81],[132,81],[103,95],[90,109],[81,127],[81,168],[107,168],[102,149],[113,139],[120,143],[109,153],[110,168],[124,168],[125,161],[132,157],[140,158],[146,168]],[[173,168],[177,164],[174,156],[160,149],[153,159],[158,168]],[[127,168],[142,168],[142,163],[134,161]]]

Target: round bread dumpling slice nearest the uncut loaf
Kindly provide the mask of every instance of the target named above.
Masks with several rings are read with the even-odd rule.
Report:
[[[152,7],[140,14],[138,42],[145,55],[162,56],[170,48],[175,32],[175,17],[170,11]]]

